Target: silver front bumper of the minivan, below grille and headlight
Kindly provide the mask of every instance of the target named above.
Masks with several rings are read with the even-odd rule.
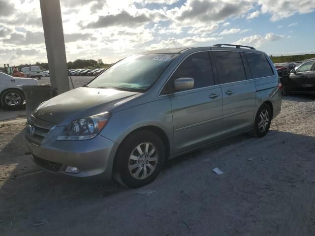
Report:
[[[110,180],[118,144],[101,135],[90,140],[56,140],[63,128],[57,126],[50,130],[40,144],[34,143],[30,134],[26,133],[25,139],[33,161],[50,172],[75,177],[101,175],[104,180]],[[65,172],[68,166],[77,167],[80,172]]]

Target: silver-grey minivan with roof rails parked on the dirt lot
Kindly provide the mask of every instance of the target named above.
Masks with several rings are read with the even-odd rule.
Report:
[[[272,61],[252,47],[156,50],[42,103],[28,119],[26,141],[45,170],[117,176],[136,188],[170,158],[231,135],[265,136],[281,103]]]

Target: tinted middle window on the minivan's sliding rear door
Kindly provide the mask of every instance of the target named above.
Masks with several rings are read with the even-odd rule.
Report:
[[[213,52],[221,84],[246,80],[243,60],[238,52]]]

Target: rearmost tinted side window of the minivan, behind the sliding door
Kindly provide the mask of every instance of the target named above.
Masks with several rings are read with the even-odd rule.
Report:
[[[269,62],[264,55],[257,53],[245,53],[245,55],[250,65],[253,79],[274,75]]]

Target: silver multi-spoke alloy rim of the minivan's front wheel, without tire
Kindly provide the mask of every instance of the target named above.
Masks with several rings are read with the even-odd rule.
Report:
[[[153,174],[158,165],[158,149],[151,143],[139,144],[128,160],[128,170],[135,179],[145,179]]]

